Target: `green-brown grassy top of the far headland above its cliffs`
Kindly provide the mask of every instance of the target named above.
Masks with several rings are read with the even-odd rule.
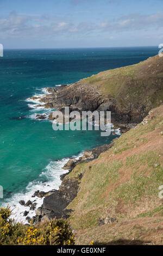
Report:
[[[100,72],[82,81],[97,86],[102,95],[114,96],[121,106],[146,102],[151,109],[159,106],[163,99],[163,58],[154,56],[135,65]]]

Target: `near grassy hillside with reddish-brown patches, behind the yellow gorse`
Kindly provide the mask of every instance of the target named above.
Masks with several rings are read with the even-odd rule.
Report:
[[[147,123],[137,125],[115,141],[97,160],[78,164],[69,174],[81,180],[78,196],[68,205],[77,243],[163,244],[163,105],[153,109]],[[116,217],[118,223],[98,227],[98,218]],[[140,240],[140,241],[139,241]]]

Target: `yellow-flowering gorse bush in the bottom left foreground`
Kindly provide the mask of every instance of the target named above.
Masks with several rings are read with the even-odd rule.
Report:
[[[74,234],[65,220],[25,225],[10,216],[9,207],[0,208],[1,245],[74,245]]]

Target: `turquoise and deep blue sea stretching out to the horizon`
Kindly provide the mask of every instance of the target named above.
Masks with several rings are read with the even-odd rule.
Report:
[[[36,113],[51,109],[36,109],[29,97],[43,95],[45,87],[70,84],[157,53],[157,47],[4,50],[0,58],[0,185],[4,198],[0,204],[16,206],[15,218],[19,219],[24,209],[18,201],[31,199],[36,190],[58,188],[60,174],[65,173],[61,167],[69,157],[109,144],[118,136],[54,131],[50,121],[35,120]],[[37,206],[41,203],[37,199]]]

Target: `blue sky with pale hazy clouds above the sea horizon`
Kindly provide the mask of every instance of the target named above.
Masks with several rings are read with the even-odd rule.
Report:
[[[4,48],[158,46],[163,0],[0,0]]]

